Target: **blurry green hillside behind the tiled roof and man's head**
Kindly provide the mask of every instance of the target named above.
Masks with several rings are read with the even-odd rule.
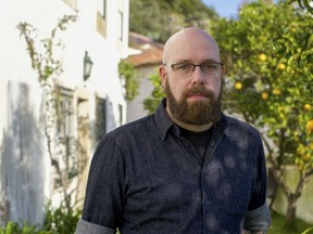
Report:
[[[201,0],[130,0],[129,30],[165,42],[181,27],[204,28],[216,17]]]

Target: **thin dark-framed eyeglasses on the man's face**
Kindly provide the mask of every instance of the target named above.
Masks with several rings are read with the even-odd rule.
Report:
[[[180,64],[164,64],[164,66],[172,67],[178,76],[189,76],[191,75],[196,67],[199,66],[201,72],[204,75],[212,75],[220,70],[224,66],[223,63],[203,63],[203,64],[190,64],[190,63],[180,63]]]

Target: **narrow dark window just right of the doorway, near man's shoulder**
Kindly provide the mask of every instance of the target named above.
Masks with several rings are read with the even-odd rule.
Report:
[[[97,99],[96,104],[96,141],[107,133],[107,101],[104,99]]]

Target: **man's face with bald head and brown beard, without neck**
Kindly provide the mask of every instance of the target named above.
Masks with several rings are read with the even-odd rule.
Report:
[[[215,41],[197,30],[177,35],[165,50],[165,66],[160,67],[165,87],[167,108],[172,116],[187,125],[214,123],[221,118],[221,98],[224,67],[205,73],[196,66],[192,73],[181,76],[173,64],[218,63],[220,51]],[[185,69],[187,66],[183,66]],[[185,73],[185,72],[183,72]]]

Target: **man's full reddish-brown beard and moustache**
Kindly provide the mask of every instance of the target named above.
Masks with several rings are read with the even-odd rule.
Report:
[[[215,123],[221,119],[221,99],[222,99],[223,83],[217,96],[210,90],[206,90],[203,86],[192,87],[181,93],[180,100],[175,100],[170,83],[166,79],[164,88],[170,112],[177,120],[187,125],[206,125]],[[187,102],[187,99],[191,94],[202,94],[208,98],[208,101],[195,101]]]

